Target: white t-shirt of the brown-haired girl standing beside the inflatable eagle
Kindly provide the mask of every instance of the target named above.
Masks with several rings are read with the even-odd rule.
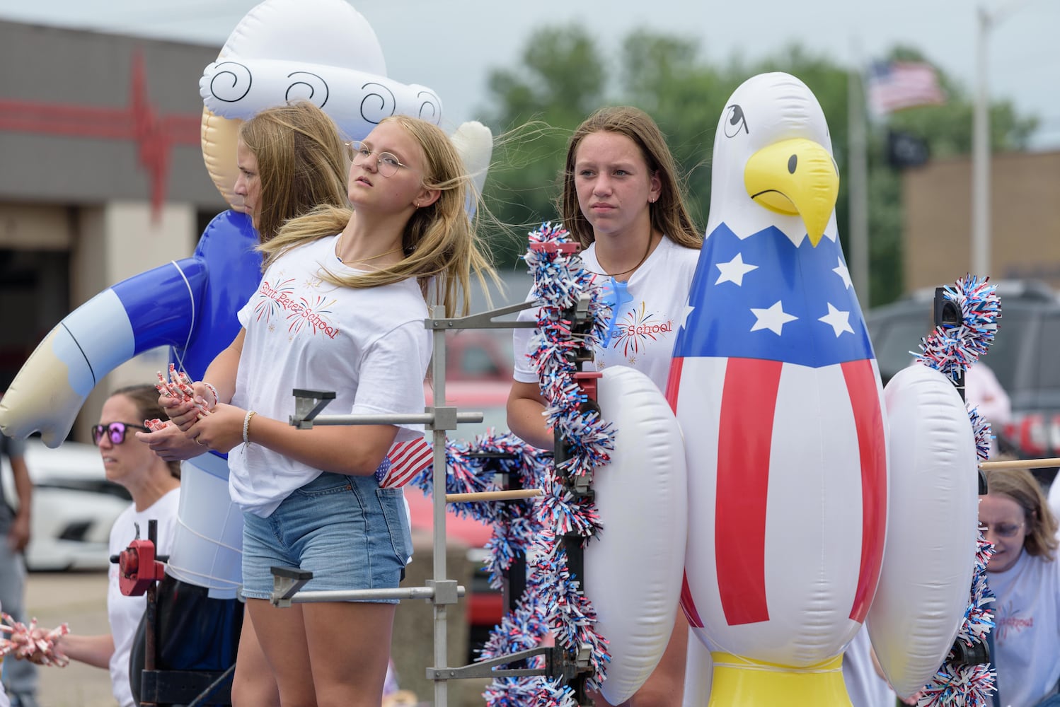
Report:
[[[586,270],[603,272],[596,258],[596,243],[590,243],[581,256]],[[658,389],[666,391],[673,344],[699,259],[700,251],[664,238],[625,284],[629,297],[622,297],[623,302],[615,308],[615,333],[605,349],[594,350],[595,361],[586,364],[586,368],[602,370],[614,365],[630,366],[651,378]],[[607,275],[600,275],[597,282],[607,279]],[[519,312],[520,321],[532,322],[536,318],[536,309]],[[515,329],[513,333],[513,377],[520,383],[537,382],[537,374],[527,358],[532,350],[530,338],[534,331]]]

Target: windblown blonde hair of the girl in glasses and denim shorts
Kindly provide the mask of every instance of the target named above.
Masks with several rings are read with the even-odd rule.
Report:
[[[476,230],[467,215],[469,199],[478,198],[459,153],[441,128],[407,115],[392,115],[420,145],[424,155],[423,186],[440,192],[431,204],[413,212],[402,236],[405,257],[376,272],[356,275],[323,273],[328,282],[343,287],[367,288],[390,285],[416,277],[428,304],[445,306],[445,315],[470,310],[470,275],[474,271],[485,290],[484,276],[499,282],[493,265],[479,247]],[[476,211],[477,213],[477,211]],[[319,206],[288,221],[268,243],[259,247],[265,253],[266,267],[293,248],[340,233],[349,223],[350,209]],[[461,297],[462,295],[462,297]]]

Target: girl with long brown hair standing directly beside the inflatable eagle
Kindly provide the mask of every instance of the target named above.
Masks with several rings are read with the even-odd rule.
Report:
[[[616,294],[611,336],[594,351],[593,365],[632,366],[665,391],[703,235],[685,206],[673,156],[655,121],[629,106],[601,108],[587,117],[567,147],[559,204],[564,225],[582,244],[585,268]],[[524,321],[535,316],[520,314]],[[527,359],[530,334],[515,329],[508,424],[527,442],[550,449],[545,401]],[[688,622],[678,613],[666,653],[633,705],[681,704],[687,641]],[[606,704],[600,695],[594,700]]]

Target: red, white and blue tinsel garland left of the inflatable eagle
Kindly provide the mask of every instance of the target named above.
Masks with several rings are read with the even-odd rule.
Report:
[[[534,300],[542,303],[537,330],[531,339],[531,361],[541,380],[542,394],[548,401],[545,415],[549,427],[567,442],[568,458],[555,469],[548,455],[525,445],[517,437],[501,435],[476,438],[473,445],[446,446],[446,491],[494,490],[495,470],[476,457],[476,452],[508,451],[517,461],[509,473],[517,473],[526,488],[541,488],[542,498],[505,504],[452,504],[458,513],[493,524],[493,537],[487,544],[491,584],[500,585],[501,575],[517,555],[527,558],[530,569],[526,591],[516,609],[508,613],[492,632],[481,658],[510,655],[541,645],[551,628],[558,645],[573,655],[580,646],[590,648],[594,674],[586,681],[599,688],[611,660],[607,641],[596,630],[596,613],[572,581],[567,554],[558,536],[572,533],[588,538],[600,529],[596,506],[579,500],[563,484],[563,475],[590,475],[607,464],[614,449],[614,432],[596,412],[585,412],[586,396],[575,380],[577,363],[571,354],[581,347],[591,348],[606,336],[611,305],[594,276],[582,267],[577,244],[566,230],[544,223],[529,234],[530,249],[525,256],[534,274]],[[572,332],[573,324],[565,312],[578,305],[583,293],[589,294],[591,325],[582,334]],[[582,336],[579,341],[576,336]],[[413,484],[430,492],[429,470]],[[543,667],[541,656],[534,667]],[[577,707],[573,691],[562,679],[547,677],[505,677],[495,679],[483,693],[489,707]]]

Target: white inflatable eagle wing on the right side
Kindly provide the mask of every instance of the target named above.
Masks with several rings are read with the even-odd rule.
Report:
[[[972,425],[946,376],[914,364],[890,380],[884,400],[891,502],[867,624],[887,681],[908,696],[946,659],[968,606],[978,477]]]

